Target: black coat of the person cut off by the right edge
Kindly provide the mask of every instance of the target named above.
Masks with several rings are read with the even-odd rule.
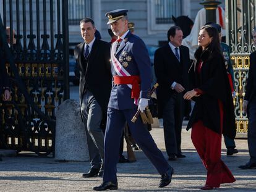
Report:
[[[247,84],[245,86],[244,100],[249,101],[247,114],[249,115],[249,106],[252,98],[256,97],[256,51],[250,54],[250,69],[248,73]]]

